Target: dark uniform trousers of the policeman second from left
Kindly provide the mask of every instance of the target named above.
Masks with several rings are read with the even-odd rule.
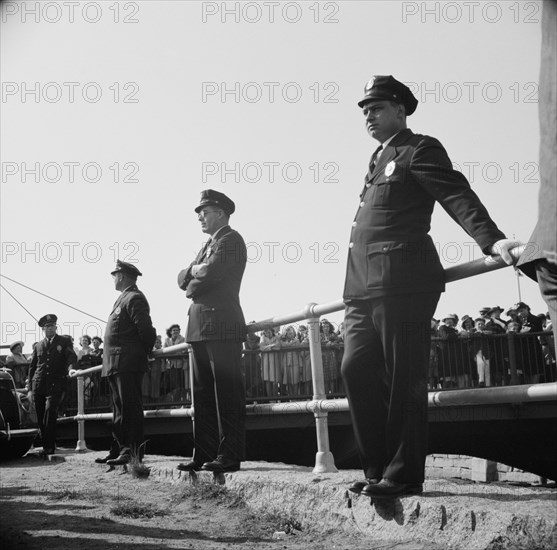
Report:
[[[142,382],[143,372],[120,372],[108,376],[113,414],[112,456],[133,453],[141,459],[144,455]]]

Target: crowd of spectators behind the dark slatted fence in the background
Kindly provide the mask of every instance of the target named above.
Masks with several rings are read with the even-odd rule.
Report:
[[[505,315],[505,318],[502,315]],[[343,323],[335,326],[320,321],[320,340],[325,392],[342,395],[340,364],[343,354]],[[485,307],[476,317],[451,313],[432,319],[429,389],[452,389],[538,383],[557,380],[555,343],[549,317],[534,315],[519,302],[506,312],[499,306]],[[70,338],[73,343],[73,338]],[[250,333],[244,343],[243,363],[249,398],[280,399],[310,396],[312,390],[309,333],[304,324],[269,328]],[[157,336],[154,349],[185,343],[178,324],[171,325],[166,338]],[[16,387],[25,387],[30,355],[24,343],[14,342],[6,357]],[[102,364],[102,339],[84,334],[74,346],[77,369]],[[98,374],[98,376],[97,376]],[[87,403],[106,405],[108,388],[100,373],[85,378]],[[75,387],[69,401],[75,400]],[[185,402],[191,399],[189,357],[151,359],[143,380],[146,403]],[[106,403],[105,403],[106,401]]]

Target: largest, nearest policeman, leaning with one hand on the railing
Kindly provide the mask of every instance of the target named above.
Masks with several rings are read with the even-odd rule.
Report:
[[[438,140],[414,134],[418,105],[392,76],[374,76],[358,103],[380,145],[352,223],[344,288],[342,376],[372,498],[422,491],[427,453],[429,329],[443,267],[428,235],[436,201],[486,254],[512,263],[505,238]]]

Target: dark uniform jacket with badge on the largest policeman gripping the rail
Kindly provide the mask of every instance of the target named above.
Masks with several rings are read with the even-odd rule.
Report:
[[[365,178],[350,235],[345,301],[445,289],[428,235],[436,201],[484,253],[505,237],[441,143],[402,130]]]

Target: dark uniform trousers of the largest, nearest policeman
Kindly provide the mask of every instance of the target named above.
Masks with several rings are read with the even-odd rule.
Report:
[[[366,478],[423,482],[430,326],[439,296],[346,303],[341,374]]]

